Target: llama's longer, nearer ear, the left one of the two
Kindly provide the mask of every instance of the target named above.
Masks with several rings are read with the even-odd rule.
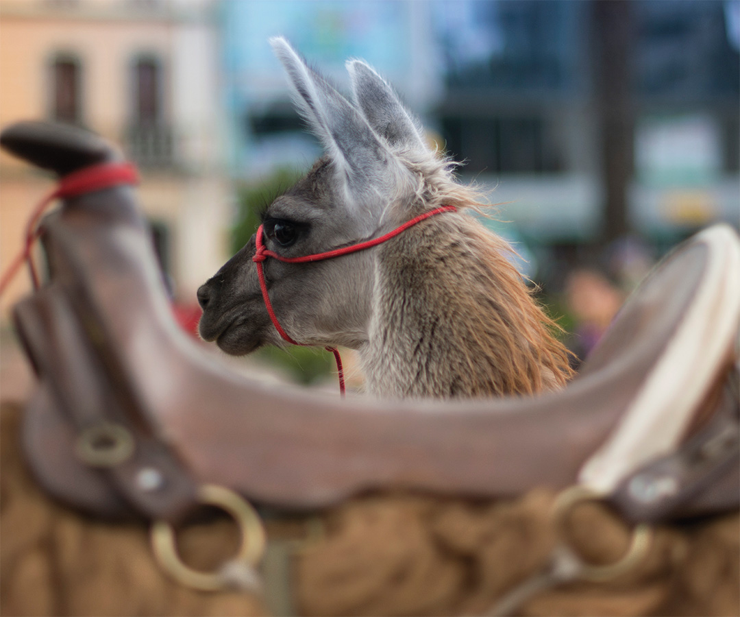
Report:
[[[337,165],[349,196],[355,201],[366,201],[363,196],[377,199],[379,187],[386,184],[393,155],[362,114],[309,68],[286,39],[277,36],[270,39],[270,44],[295,88],[300,113]]]

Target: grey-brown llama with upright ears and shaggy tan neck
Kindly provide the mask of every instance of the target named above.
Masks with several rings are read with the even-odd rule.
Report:
[[[568,352],[507,259],[471,216],[480,204],[431,150],[420,124],[368,64],[346,64],[352,101],[283,38],[271,39],[295,102],[323,145],[309,173],[263,214],[263,241],[292,258],[425,219],[337,259],[264,262],[280,324],[302,344],[358,351],[366,390],[393,398],[534,394],[571,375]],[[283,344],[260,295],[255,236],[198,290],[201,337],[229,354]]]

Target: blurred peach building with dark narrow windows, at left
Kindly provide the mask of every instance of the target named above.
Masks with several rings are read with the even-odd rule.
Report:
[[[0,125],[51,119],[120,144],[158,255],[178,295],[220,266],[229,216],[212,0],[4,0]],[[52,183],[0,159],[1,263],[20,249],[33,206]],[[28,287],[17,277],[4,306]]]

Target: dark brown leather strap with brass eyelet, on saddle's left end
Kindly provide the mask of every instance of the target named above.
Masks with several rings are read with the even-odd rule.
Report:
[[[24,347],[48,384],[44,396],[53,394],[73,427],[77,461],[107,478],[141,515],[176,521],[196,503],[195,483],[147,421],[84,293],[72,291],[74,299],[50,284],[15,310]]]

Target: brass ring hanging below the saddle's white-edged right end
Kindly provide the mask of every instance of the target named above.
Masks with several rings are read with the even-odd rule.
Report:
[[[562,521],[565,515],[573,509],[576,504],[582,501],[601,501],[605,495],[598,493],[595,490],[577,485],[569,487],[560,493],[553,504],[552,519],[556,527],[562,527]],[[605,582],[610,581],[613,578],[622,576],[622,574],[628,573],[637,564],[639,564],[650,548],[650,544],[653,539],[653,528],[647,523],[639,523],[632,530],[632,537],[630,538],[630,545],[627,552],[615,561],[613,564],[606,565],[594,565],[588,564],[582,561],[577,556],[571,547],[565,545],[565,547],[571,552],[574,558],[580,561],[579,578],[584,581],[591,582]]]

